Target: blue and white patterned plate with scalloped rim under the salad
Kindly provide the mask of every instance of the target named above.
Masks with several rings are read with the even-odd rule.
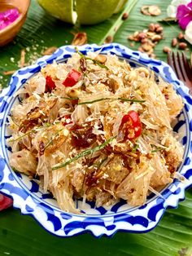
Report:
[[[185,189],[192,184],[191,152],[192,152],[192,99],[184,84],[177,80],[172,68],[160,60],[151,60],[147,55],[131,51],[125,46],[111,43],[104,46],[85,45],[79,46],[79,51],[86,55],[88,51],[101,51],[103,54],[111,52],[124,58],[133,67],[146,66],[172,83],[181,95],[185,107],[177,117],[174,130],[181,134],[181,143],[185,147],[184,161],[177,170],[185,177],[181,182],[175,179],[161,191],[162,196],[151,194],[146,205],[130,207],[125,201],[120,201],[109,208],[96,208],[94,202],[87,202],[83,211],[85,214],[69,214],[59,210],[57,202],[49,193],[43,193],[34,180],[28,179],[23,174],[15,173],[9,166],[8,156],[10,148],[6,139],[10,136],[7,129],[7,117],[13,104],[18,104],[19,99],[14,97],[15,91],[24,86],[24,83],[39,72],[46,64],[54,60],[63,62],[76,51],[74,46],[60,47],[53,55],[44,56],[37,60],[33,66],[22,68],[12,77],[7,89],[0,95],[0,192],[11,196],[14,207],[20,208],[22,214],[36,218],[42,227],[57,236],[74,236],[82,232],[91,232],[99,237],[104,234],[112,236],[117,231],[148,232],[153,229],[163,216],[167,207],[176,208],[178,202],[185,198]],[[76,207],[81,208],[81,200],[76,201]],[[82,209],[82,208],[81,208]]]

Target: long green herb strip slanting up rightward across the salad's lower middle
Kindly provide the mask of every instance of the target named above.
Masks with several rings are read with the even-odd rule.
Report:
[[[107,139],[104,143],[102,143],[101,145],[99,145],[98,147],[95,148],[91,148],[91,149],[86,149],[84,151],[82,151],[81,153],[77,154],[76,157],[72,157],[70,160],[63,162],[63,164],[54,166],[52,168],[52,170],[58,170],[60,168],[63,168],[65,166],[70,165],[73,161],[76,161],[77,159],[81,158],[81,157],[85,157],[87,155],[93,154],[94,152],[101,150],[103,148],[105,148],[105,146],[107,146],[107,144],[111,143],[111,141],[115,139],[115,137],[111,137],[110,139]]]

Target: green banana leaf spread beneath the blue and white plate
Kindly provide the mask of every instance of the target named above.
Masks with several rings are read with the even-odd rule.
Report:
[[[164,40],[156,46],[155,55],[166,61],[167,55],[162,49],[171,46],[172,38],[177,37],[181,31],[176,23],[162,22],[170,2],[129,0],[124,11],[102,24],[76,28],[47,15],[32,0],[23,29],[14,42],[0,49],[0,84],[7,86],[10,77],[3,73],[18,68],[22,49],[26,49],[27,60],[31,55],[35,59],[41,56],[46,47],[70,44],[74,33],[78,31],[87,33],[89,43],[103,44],[107,36],[112,36],[113,42],[137,50],[138,45],[130,45],[128,36],[135,31],[147,29],[151,22],[161,22]],[[141,14],[140,8],[143,5],[152,4],[159,5],[162,15],[151,17]],[[127,20],[122,20],[124,12],[129,13]],[[191,46],[187,52],[188,57],[190,52]],[[4,210],[0,212],[0,255],[192,255],[192,189],[185,193],[185,201],[180,202],[177,210],[166,211],[153,231],[145,234],[117,232],[112,238],[96,239],[90,234],[59,238],[46,232],[32,217],[21,215],[20,210]]]

